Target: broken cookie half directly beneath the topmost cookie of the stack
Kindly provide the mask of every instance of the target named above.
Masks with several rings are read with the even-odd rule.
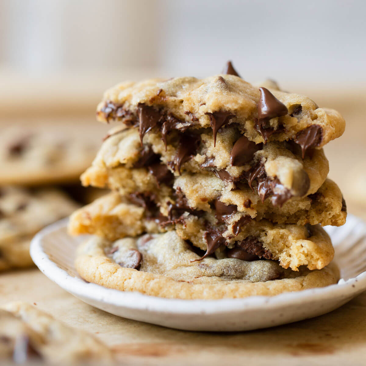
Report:
[[[121,188],[124,175],[138,175],[139,171],[134,173],[133,169],[144,169],[149,173],[149,179],[143,180],[145,190],[153,186],[160,190],[161,184],[169,184],[183,172],[214,173],[231,189],[238,184],[257,185],[255,191],[262,199],[269,198],[281,206],[292,197],[315,193],[329,171],[323,150],[302,158],[296,144],[255,145],[240,137],[234,126],[220,134],[216,146],[212,131],[207,130],[191,134],[184,145],[177,142],[165,146],[160,133],[150,133],[145,140],[141,146],[138,131],[133,128],[111,132],[92,166],[83,173],[83,185]],[[123,167],[126,169],[120,169]],[[119,173],[122,182],[115,181]],[[138,184],[142,179],[137,176],[135,180]]]

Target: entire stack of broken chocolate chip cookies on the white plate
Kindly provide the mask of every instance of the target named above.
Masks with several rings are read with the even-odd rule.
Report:
[[[322,147],[344,131],[338,112],[228,63],[119,84],[97,119],[117,124],[81,180],[112,193],[71,217],[72,234],[95,234],[76,259],[85,280],[205,299],[336,283],[322,226],[343,225],[346,205]]]

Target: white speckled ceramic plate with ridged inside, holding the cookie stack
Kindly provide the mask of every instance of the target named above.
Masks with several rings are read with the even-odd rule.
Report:
[[[239,331],[266,328],[328,313],[366,290],[366,224],[348,215],[343,227],[328,227],[341,270],[338,284],[277,296],[181,300],[122,292],[82,280],[74,268],[76,246],[67,219],[39,232],[30,254],[38,268],[77,298],[121,317],[184,330]]]

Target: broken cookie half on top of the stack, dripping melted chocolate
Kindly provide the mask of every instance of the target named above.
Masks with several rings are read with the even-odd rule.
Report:
[[[345,122],[338,112],[269,86],[257,88],[225,74],[124,82],[105,92],[97,119],[138,126],[141,140],[150,130],[160,130],[165,142],[173,130],[202,127],[211,127],[216,140],[222,128],[237,124],[255,143],[293,140],[303,156],[343,134]]]

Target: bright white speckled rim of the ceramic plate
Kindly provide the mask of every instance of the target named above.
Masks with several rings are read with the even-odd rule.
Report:
[[[366,224],[358,217],[350,214],[349,216],[350,219],[357,219],[358,222],[361,222],[366,227]],[[285,307],[289,303],[291,305],[304,304],[306,302],[313,302],[314,297],[317,301],[341,296],[344,298],[352,298],[355,294],[366,290],[366,271],[356,277],[347,280],[341,279],[337,284],[326,287],[285,292],[275,296],[257,295],[238,299],[170,299],[145,295],[137,291],[110,289],[98,284],[87,283],[81,278],[71,276],[66,270],[60,268],[53,262],[43,250],[42,239],[46,235],[66,228],[67,222],[68,218],[56,221],[34,236],[30,244],[30,255],[33,262],[46,277],[65,291],[71,292],[76,296],[117,307],[163,312],[165,314],[221,314],[227,313],[227,311],[274,309]],[[70,236],[70,239],[72,240],[72,236]],[[193,306],[187,306],[188,303]]]

